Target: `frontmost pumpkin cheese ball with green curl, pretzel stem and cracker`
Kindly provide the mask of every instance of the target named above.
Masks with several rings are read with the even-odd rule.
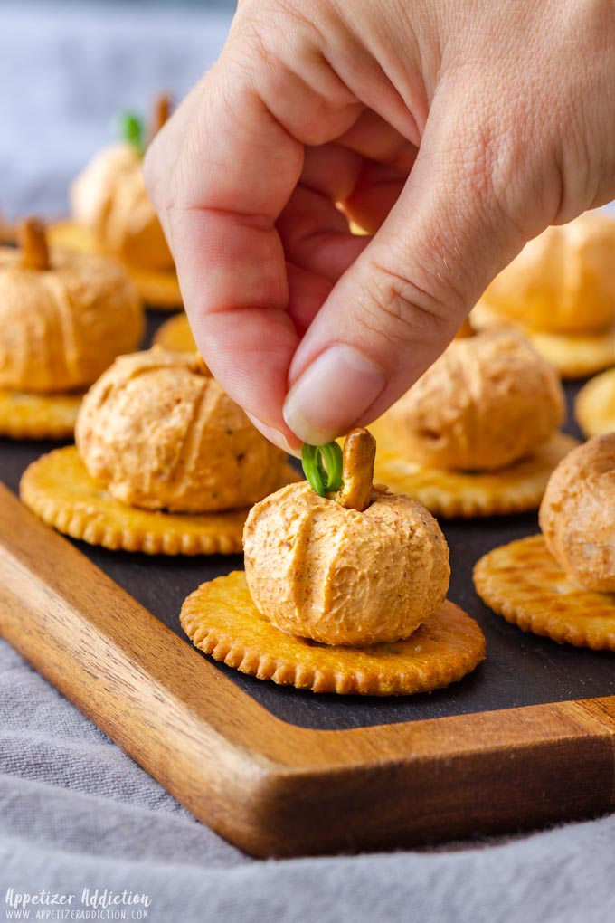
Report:
[[[244,673],[314,692],[409,694],[465,676],[485,641],[444,598],[448,547],[436,521],[373,485],[367,430],[349,434],[343,464],[335,443],[323,447],[326,470],[314,461],[321,450],[304,450],[310,483],[254,506],[245,573],[191,593],[183,629]]]

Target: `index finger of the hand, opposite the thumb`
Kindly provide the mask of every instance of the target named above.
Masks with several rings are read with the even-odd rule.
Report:
[[[184,305],[231,398],[281,428],[298,336],[275,221],[301,174],[302,144],[228,70],[214,68],[200,95],[165,203]]]

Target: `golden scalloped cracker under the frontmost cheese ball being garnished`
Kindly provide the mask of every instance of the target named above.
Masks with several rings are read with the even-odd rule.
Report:
[[[341,647],[285,634],[263,617],[242,570],[203,583],[184,601],[182,628],[215,660],[281,686],[346,695],[442,689],[485,658],[479,625],[447,601],[406,641]]]

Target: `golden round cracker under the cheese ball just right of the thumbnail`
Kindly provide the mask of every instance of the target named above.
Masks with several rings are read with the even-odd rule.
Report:
[[[409,461],[395,426],[386,417],[370,429],[378,444],[374,484],[385,484],[395,494],[408,494],[445,519],[538,509],[551,472],[578,445],[572,436],[555,433],[534,455],[500,471],[446,471]]]

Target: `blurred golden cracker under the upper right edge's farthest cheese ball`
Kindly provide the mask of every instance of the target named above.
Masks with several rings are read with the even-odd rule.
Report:
[[[526,334],[536,352],[554,366],[562,378],[586,378],[615,365],[615,327],[597,333],[547,333],[502,318],[479,302],[470,315],[476,330],[516,327]]]

